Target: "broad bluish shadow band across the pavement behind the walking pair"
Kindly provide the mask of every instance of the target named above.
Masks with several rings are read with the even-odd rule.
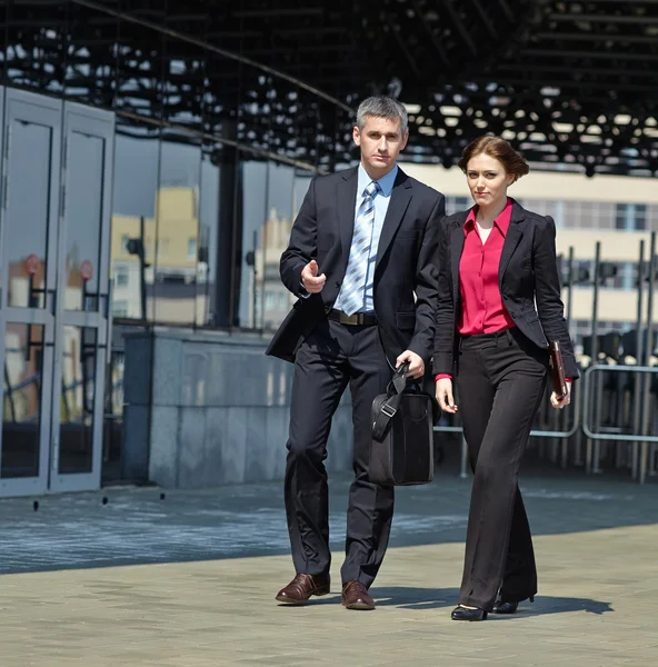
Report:
[[[348,474],[330,475],[336,555],[345,549],[350,482]],[[658,524],[656,485],[542,467],[520,486],[535,536]],[[430,485],[397,489],[390,547],[462,542],[470,488],[441,468]],[[103,489],[38,504],[36,511],[33,498],[0,500],[0,575],[290,554],[280,481]]]

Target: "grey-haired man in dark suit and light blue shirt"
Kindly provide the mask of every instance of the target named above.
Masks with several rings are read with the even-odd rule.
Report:
[[[433,342],[433,263],[445,198],[408,177],[397,158],[408,139],[398,101],[376,97],[357,113],[358,168],[316,177],[281,257],[281,279],[300,299],[268,354],[295,360],[286,510],[297,576],[281,603],[329,593],[327,439],[350,386],[355,480],[349,494],[342,604],[373,609],[368,591],[383,559],[393,489],[368,479],[370,409],[405,361],[425,374]]]

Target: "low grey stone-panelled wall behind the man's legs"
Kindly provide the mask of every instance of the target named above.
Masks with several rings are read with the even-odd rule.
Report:
[[[281,479],[293,367],[266,357],[267,342],[171,329],[127,336],[126,477],[169,488]],[[346,392],[328,470],[351,468],[351,437]]]

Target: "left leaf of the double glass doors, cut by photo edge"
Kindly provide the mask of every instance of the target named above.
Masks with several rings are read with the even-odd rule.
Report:
[[[0,495],[17,496],[49,479],[61,102],[0,94]]]

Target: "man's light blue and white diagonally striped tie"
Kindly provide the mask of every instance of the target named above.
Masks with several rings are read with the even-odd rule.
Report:
[[[352,247],[340,293],[341,310],[347,315],[353,315],[362,308],[366,299],[368,258],[375,226],[375,196],[378,190],[379,185],[370,182],[363,190],[363,201],[357,211]]]

